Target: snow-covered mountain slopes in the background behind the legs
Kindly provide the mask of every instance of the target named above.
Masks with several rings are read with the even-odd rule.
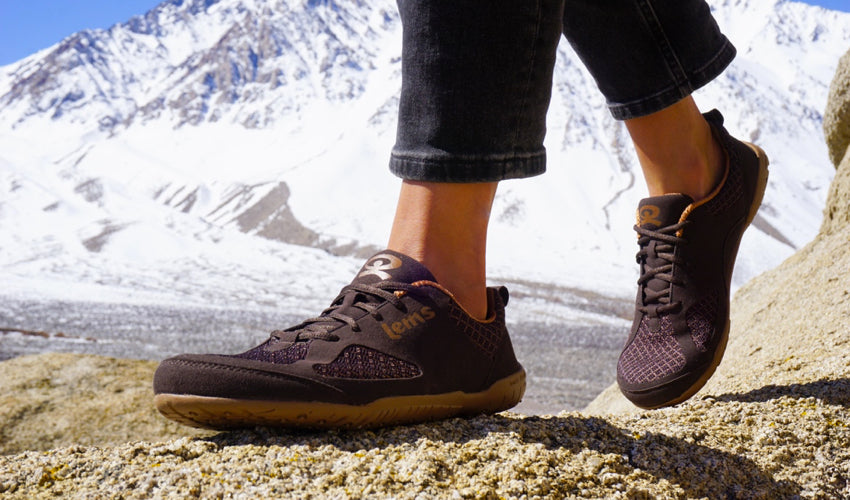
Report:
[[[739,56],[697,100],[772,160],[740,284],[820,224],[850,15],[710,3]],[[400,32],[391,0],[168,0],[0,67],[4,292],[314,314],[387,237]],[[490,275],[515,320],[622,322],[580,303],[632,296],[645,188],[567,44],[548,127],[549,172],[500,186]]]

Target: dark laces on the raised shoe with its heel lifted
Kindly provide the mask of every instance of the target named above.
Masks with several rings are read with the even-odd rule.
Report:
[[[683,265],[682,260],[676,257],[676,246],[687,242],[680,236],[680,231],[688,223],[682,221],[655,230],[634,226],[640,235],[640,250],[636,260],[638,264],[643,264],[638,278],[642,299],[637,309],[650,317],[674,312],[682,307],[681,301],[672,300],[671,291],[673,285],[684,285],[684,280],[673,273],[673,266]]]

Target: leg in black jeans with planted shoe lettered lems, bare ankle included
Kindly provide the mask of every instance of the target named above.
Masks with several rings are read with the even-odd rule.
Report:
[[[520,400],[507,290],[485,288],[486,230],[496,183],[544,169],[560,2],[399,1],[391,169],[404,181],[390,248],[316,318],[240,354],[163,361],[164,415],[211,428],[361,427]]]

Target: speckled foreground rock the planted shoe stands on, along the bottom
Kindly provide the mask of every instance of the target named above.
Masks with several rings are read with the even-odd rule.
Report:
[[[0,457],[10,498],[840,498],[846,379],[630,417],[504,414],[379,431],[264,429]]]

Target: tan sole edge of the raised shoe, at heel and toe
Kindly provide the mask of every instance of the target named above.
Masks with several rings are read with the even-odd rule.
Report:
[[[742,141],[743,142],[743,141]],[[753,198],[753,203],[750,205],[750,211],[747,214],[747,222],[744,225],[744,230],[741,231],[741,236],[743,237],[744,231],[746,231],[747,227],[753,222],[753,219],[756,218],[756,214],[758,213],[758,209],[761,206],[761,202],[764,199],[764,192],[767,189],[767,177],[769,175],[768,165],[770,164],[770,160],[767,157],[767,153],[764,152],[763,149],[756,146],[755,144],[750,144],[749,142],[744,142],[753,152],[756,154],[759,160],[759,175],[758,180],[756,182],[756,192],[755,197]],[[740,244],[740,240],[739,240]],[[693,384],[688,386],[685,391],[669,401],[663,401],[661,403],[649,403],[648,401],[657,401],[658,396],[668,392],[670,389],[670,384],[667,384],[665,387],[658,389],[651,389],[649,391],[641,391],[641,392],[627,392],[623,391],[624,395],[631,401],[635,406],[639,408],[643,408],[644,410],[655,410],[657,408],[664,408],[667,406],[675,406],[679,403],[687,401],[694,394],[700,391],[708,380],[714,375],[714,372],[717,371],[717,367],[720,366],[720,362],[723,361],[723,355],[726,353],[726,344],[729,342],[729,329],[731,327],[731,323],[729,319],[726,319],[726,328],[723,329],[723,333],[720,336],[720,343],[717,346],[717,350],[714,352],[714,357],[711,360],[711,363],[708,364],[703,374],[694,381]],[[642,401],[647,401],[646,403]]]

